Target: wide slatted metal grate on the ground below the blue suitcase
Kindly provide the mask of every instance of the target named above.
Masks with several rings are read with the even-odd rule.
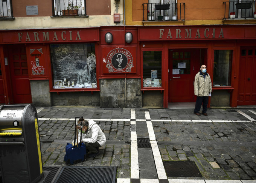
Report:
[[[64,166],[54,183],[115,183],[116,166]]]

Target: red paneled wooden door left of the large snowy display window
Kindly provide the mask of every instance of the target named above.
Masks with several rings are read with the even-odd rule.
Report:
[[[8,46],[8,50],[13,103],[32,103],[26,47],[24,45],[11,45]]]

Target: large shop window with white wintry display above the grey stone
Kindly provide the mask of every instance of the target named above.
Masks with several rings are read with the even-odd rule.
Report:
[[[96,88],[95,44],[50,45],[53,88]]]

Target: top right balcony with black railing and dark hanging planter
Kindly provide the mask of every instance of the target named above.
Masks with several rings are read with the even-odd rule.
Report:
[[[253,1],[226,1],[223,20],[227,19],[253,19],[256,18],[255,0]]]

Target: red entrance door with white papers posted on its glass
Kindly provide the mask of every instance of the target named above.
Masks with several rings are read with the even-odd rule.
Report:
[[[194,78],[200,68],[199,55],[196,49],[169,51],[168,102],[195,102]]]

